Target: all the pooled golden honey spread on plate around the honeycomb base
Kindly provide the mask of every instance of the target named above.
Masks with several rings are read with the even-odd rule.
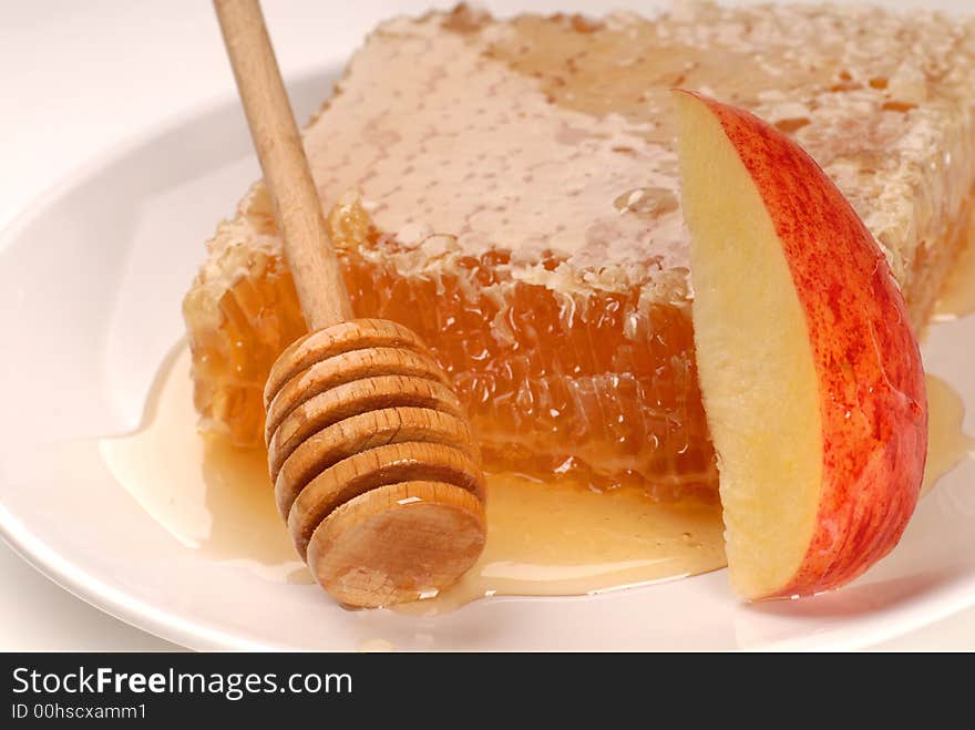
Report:
[[[136,432],[99,441],[119,483],[176,541],[274,583],[312,584],[277,513],[264,450],[201,435],[185,343],[166,358]],[[975,441],[963,405],[928,377],[931,446],[925,492]],[[660,503],[642,490],[595,491],[490,474],[488,545],[455,586],[397,610],[430,615],[496,595],[585,595],[698,575],[726,565],[716,501]],[[322,597],[322,600],[328,600]]]

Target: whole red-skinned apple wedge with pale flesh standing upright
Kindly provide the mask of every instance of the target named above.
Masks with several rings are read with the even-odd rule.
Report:
[[[927,404],[904,299],[799,145],[675,99],[731,584],[749,599],[835,588],[896,545],[921,489]]]

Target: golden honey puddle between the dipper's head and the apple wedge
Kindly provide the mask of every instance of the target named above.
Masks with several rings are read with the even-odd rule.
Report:
[[[438,596],[394,610],[431,616],[491,596],[579,596],[727,565],[714,500],[655,502],[639,490],[597,494],[516,474],[489,479],[488,545]]]

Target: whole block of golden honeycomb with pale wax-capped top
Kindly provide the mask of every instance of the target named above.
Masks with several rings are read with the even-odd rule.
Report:
[[[668,90],[805,146],[921,328],[975,182],[969,30],[707,2],[650,20],[389,21],[304,136],[356,315],[424,339],[489,467],[711,493]],[[208,250],[184,300],[195,404],[205,430],[259,445],[265,377],[306,330],[260,183]]]

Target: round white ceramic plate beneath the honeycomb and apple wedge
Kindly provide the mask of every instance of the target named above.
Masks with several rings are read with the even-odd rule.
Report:
[[[333,70],[291,84],[306,112]],[[0,531],[95,606],[193,648],[853,648],[975,605],[975,463],[839,593],[745,606],[725,572],[579,598],[499,598],[435,618],[347,611],[176,539],[79,443],[135,429],[218,215],[257,177],[236,100],[96,161],[0,238]],[[928,369],[975,403],[975,318],[936,327]],[[975,428],[972,419],[966,424]],[[145,469],[178,472],[173,464]],[[584,627],[584,628],[583,628]]]

